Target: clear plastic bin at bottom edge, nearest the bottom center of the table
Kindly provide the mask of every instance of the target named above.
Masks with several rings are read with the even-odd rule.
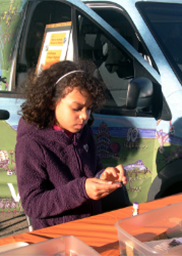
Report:
[[[93,248],[72,235],[61,236],[14,250],[4,251],[0,255],[101,256]]]

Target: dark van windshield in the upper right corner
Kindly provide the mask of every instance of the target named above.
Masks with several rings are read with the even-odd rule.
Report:
[[[182,81],[182,5],[139,2],[137,8],[174,72]]]

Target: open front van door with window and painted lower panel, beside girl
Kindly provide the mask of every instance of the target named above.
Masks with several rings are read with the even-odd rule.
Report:
[[[114,28],[98,17],[93,20],[76,11],[78,56],[93,60],[95,76],[105,82],[109,95],[104,107],[94,115],[97,152],[104,167],[123,164],[130,201],[144,202],[156,168],[157,119],[170,121],[171,112],[161,91],[155,62],[124,10],[94,10]],[[128,85],[137,77],[152,81],[153,100],[145,108],[127,109]]]

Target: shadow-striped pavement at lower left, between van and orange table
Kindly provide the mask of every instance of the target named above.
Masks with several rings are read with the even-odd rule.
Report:
[[[28,232],[27,220],[24,213],[0,213],[0,239],[24,232]]]

